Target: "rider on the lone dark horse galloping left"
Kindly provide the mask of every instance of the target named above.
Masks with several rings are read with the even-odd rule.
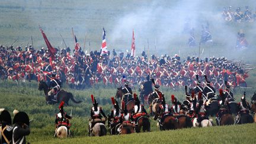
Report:
[[[49,88],[50,88],[50,91],[48,92],[49,100],[57,101],[56,94],[57,94],[57,92],[60,91],[61,81],[56,78],[56,73],[52,73],[52,78],[50,80]],[[54,95],[54,97],[53,97],[53,95]],[[47,101],[47,103],[50,103],[50,101]]]

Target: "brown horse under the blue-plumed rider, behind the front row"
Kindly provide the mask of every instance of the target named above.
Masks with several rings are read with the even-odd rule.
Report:
[[[121,91],[121,87],[117,88],[116,92],[116,98],[121,98],[121,101],[123,99],[123,92]],[[129,113],[132,113],[133,107],[135,106],[135,101],[133,100],[132,94],[127,95],[126,100],[123,100],[124,104],[126,104],[126,108]]]

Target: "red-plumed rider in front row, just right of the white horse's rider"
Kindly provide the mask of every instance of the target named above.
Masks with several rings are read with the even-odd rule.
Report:
[[[222,100],[219,101],[219,111],[216,115],[216,123],[217,125],[220,125],[220,119],[223,116],[223,114],[227,114],[230,113],[229,112],[229,105],[228,105],[228,101],[226,101],[226,97],[223,94],[223,90],[219,89],[219,94]]]

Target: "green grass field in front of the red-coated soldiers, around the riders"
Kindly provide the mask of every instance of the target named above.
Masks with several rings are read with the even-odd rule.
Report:
[[[44,100],[43,91],[37,89],[37,83],[21,83],[19,86],[15,82],[0,82],[0,107],[6,108],[10,112],[14,109],[25,111],[28,113],[31,123],[31,134],[27,137],[28,142],[31,143],[59,143],[60,140],[53,137],[55,130],[55,114],[59,112],[58,105],[47,105]],[[72,138],[68,138],[68,143],[112,143],[112,142],[132,142],[137,139],[137,143],[148,142],[183,142],[183,143],[215,143],[217,137],[220,136],[220,143],[253,143],[255,131],[253,130],[255,124],[245,124],[242,126],[229,127],[212,127],[206,129],[182,129],[172,130],[168,132],[159,132],[156,127],[156,121],[151,119],[150,133],[133,134],[129,136],[107,136],[98,138],[91,138],[87,134],[88,118],[91,104],[90,95],[94,94],[106,114],[110,114],[113,107],[110,102],[110,97],[116,92],[113,87],[100,88],[102,85],[85,89],[84,91],[75,91],[66,86],[64,89],[72,92],[76,99],[82,100],[81,104],[70,103],[64,110],[70,114],[72,110],[73,119],[71,121]],[[182,90],[170,91],[163,89],[165,95],[175,94],[180,100],[184,100],[185,95]],[[242,94],[243,89],[237,89],[235,97],[239,100],[239,95]],[[252,89],[247,90],[248,100],[252,96]],[[170,104],[170,97],[167,97],[167,102]],[[11,114],[12,115],[12,114]],[[213,118],[214,120],[214,118]],[[214,121],[215,122],[215,121]],[[242,131],[242,132],[241,132]],[[108,133],[109,135],[109,133]],[[205,137],[209,135],[208,137]],[[133,137],[133,138],[132,138]],[[194,138],[196,137],[196,138]],[[226,138],[225,138],[226,137]],[[234,139],[236,137],[236,139]],[[248,137],[248,138],[247,138]],[[246,139],[244,141],[244,139]],[[106,141],[107,140],[107,141]],[[203,141],[201,141],[203,140]]]

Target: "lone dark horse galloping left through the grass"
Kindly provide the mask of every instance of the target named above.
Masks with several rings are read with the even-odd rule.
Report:
[[[69,99],[71,99],[74,103],[78,104],[81,103],[82,101],[76,101],[75,98],[73,98],[73,94],[71,92],[66,92],[63,89],[57,92],[57,101],[56,100],[49,100],[48,92],[50,91],[50,88],[44,81],[39,82],[39,91],[44,91],[44,95],[46,98],[46,101],[52,101],[54,103],[60,103],[61,101],[64,101],[66,105],[68,104]]]

